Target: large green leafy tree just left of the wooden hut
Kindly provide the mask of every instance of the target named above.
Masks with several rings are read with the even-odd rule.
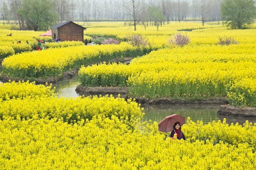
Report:
[[[27,27],[34,31],[48,29],[57,18],[52,0],[22,0],[18,14],[26,21]]]

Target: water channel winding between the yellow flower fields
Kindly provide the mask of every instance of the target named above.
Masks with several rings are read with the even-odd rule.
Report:
[[[62,82],[57,82],[55,86],[55,92],[58,93],[58,97],[77,97],[80,96],[79,93],[75,92],[76,87],[79,85],[78,76],[75,76],[72,79],[63,80]],[[91,94],[93,95],[93,94]],[[143,121],[154,121],[160,122],[166,116],[172,114],[179,114],[182,116],[190,117],[194,122],[197,120],[202,121],[204,124],[212,122],[213,120],[223,120],[226,118],[227,123],[236,123],[239,124],[245,123],[246,120],[249,122],[256,123],[256,118],[242,118],[242,117],[226,117],[219,116],[217,112],[219,110],[219,105],[141,105],[144,108],[145,116]]]

